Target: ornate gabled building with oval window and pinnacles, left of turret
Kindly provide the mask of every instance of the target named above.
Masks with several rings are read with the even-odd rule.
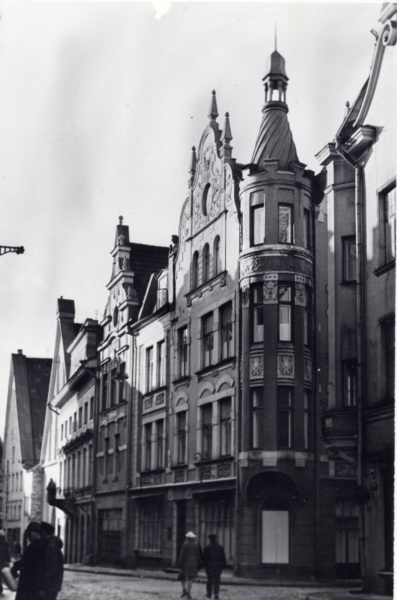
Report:
[[[239,168],[228,113],[222,131],[217,117],[214,91],[209,124],[191,155],[179,235],[168,270],[157,278],[155,311],[144,305],[131,328],[137,345],[131,532],[142,565],[175,565],[189,529],[201,545],[217,533],[230,563],[235,553]],[[162,308],[166,286],[170,304]]]

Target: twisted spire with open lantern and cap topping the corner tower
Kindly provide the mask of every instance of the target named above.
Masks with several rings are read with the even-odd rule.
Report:
[[[251,159],[251,163],[257,164],[260,170],[264,168],[263,161],[267,159],[278,160],[278,168],[281,170],[288,170],[289,164],[298,160],[287,119],[287,82],[285,60],[274,50],[266,62],[263,117]]]

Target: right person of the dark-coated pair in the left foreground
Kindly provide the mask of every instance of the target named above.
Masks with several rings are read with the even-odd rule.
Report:
[[[43,544],[43,573],[41,575],[38,598],[56,600],[64,578],[64,555],[61,550],[64,542],[54,535],[55,527],[41,521],[40,537]]]

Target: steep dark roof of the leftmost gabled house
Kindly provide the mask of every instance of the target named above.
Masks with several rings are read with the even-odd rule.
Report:
[[[25,468],[34,467],[40,458],[51,366],[50,358],[26,358],[22,352],[11,355],[5,440],[14,380],[20,451]]]

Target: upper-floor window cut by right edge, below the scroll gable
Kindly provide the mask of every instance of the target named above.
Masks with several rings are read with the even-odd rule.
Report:
[[[396,184],[378,196],[379,266],[396,259]]]

